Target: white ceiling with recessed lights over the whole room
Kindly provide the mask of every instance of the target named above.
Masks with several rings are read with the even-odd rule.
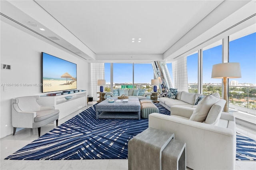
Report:
[[[255,0],[1,0],[1,20],[89,62],[171,61],[249,26],[255,32],[255,6]]]

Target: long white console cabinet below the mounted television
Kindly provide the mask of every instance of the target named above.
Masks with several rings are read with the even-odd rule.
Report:
[[[71,99],[66,100],[65,97],[72,96]],[[40,96],[38,103],[42,106],[54,106],[55,109],[59,109],[59,119],[62,119],[71,113],[87,106],[87,93],[86,91],[56,95],[56,96]]]

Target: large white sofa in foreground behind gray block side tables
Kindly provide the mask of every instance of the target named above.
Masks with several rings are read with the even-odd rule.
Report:
[[[172,106],[171,116],[150,114],[148,127],[172,132],[176,140],[186,142],[186,164],[189,168],[235,169],[235,117],[230,113],[222,112],[223,103],[225,104],[226,101],[220,99],[209,107],[208,115],[202,122],[189,119],[196,111],[204,110],[207,103],[198,103],[197,108]]]

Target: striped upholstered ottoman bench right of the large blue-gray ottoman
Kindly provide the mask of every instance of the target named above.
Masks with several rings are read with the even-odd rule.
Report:
[[[159,109],[149,99],[140,100],[140,115],[142,118],[148,118],[151,113],[159,113]]]

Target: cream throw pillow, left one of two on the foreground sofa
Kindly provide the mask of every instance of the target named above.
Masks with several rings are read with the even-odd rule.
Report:
[[[205,121],[208,112],[210,111],[212,105],[218,102],[220,99],[212,95],[207,95],[204,97],[197,105],[196,109],[190,117],[190,121],[203,122]]]

